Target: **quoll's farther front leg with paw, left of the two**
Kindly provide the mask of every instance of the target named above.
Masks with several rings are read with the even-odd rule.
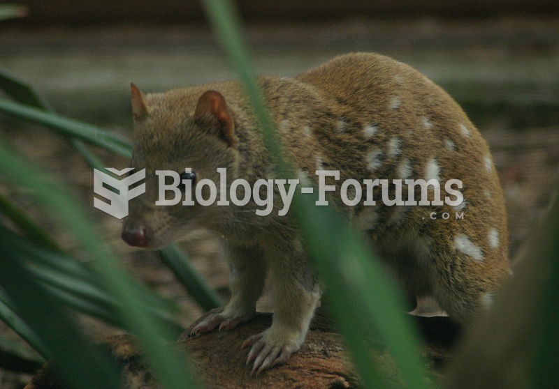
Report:
[[[254,316],[256,300],[260,297],[266,280],[266,259],[256,247],[228,247],[231,273],[229,287],[231,300],[222,309],[214,310],[198,323],[191,335],[214,330],[230,330]]]

